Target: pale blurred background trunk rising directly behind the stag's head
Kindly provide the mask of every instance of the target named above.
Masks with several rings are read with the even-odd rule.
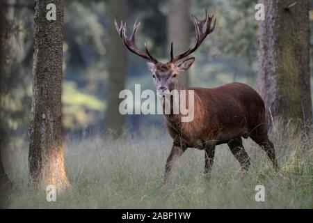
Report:
[[[170,0],[168,13],[168,49],[174,45],[174,54],[180,54],[190,47],[191,15],[190,0]],[[168,53],[168,56],[170,54]],[[188,72],[182,72],[179,79],[188,87]]]

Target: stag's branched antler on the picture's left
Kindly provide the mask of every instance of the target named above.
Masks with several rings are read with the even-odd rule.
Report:
[[[146,44],[145,44],[145,52],[146,53],[141,52],[136,45],[136,41],[135,41],[136,40],[136,32],[138,31],[138,28],[141,25],[141,23],[137,23],[137,21],[136,21],[134,24],[134,29],[133,29],[133,32],[131,33],[131,36],[127,37],[126,22],[125,22],[125,24],[123,24],[123,22],[121,21],[120,26],[118,26],[118,23],[116,22],[116,20],[114,20],[114,22],[115,22],[115,28],[118,31],[118,34],[122,38],[127,49],[129,49],[134,54],[141,56],[143,59],[146,59],[146,60],[151,61],[153,63],[159,63],[159,61],[157,61],[157,59],[150,54],[149,50],[147,49]]]

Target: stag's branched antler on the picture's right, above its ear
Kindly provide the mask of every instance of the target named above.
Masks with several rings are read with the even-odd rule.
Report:
[[[185,58],[186,56],[189,56],[193,52],[195,52],[195,50],[197,50],[198,47],[200,47],[200,45],[203,42],[203,40],[205,38],[207,38],[207,36],[211,32],[214,31],[214,28],[215,28],[215,25],[216,25],[216,19],[214,20],[213,27],[211,27],[211,22],[213,21],[214,15],[212,15],[210,17],[207,14],[207,10],[205,10],[204,20],[199,20],[194,15],[192,15],[192,17],[193,17],[193,24],[195,25],[195,35],[196,35],[195,45],[193,46],[193,48],[189,48],[188,50],[186,50],[185,52],[183,52],[182,54],[179,54],[177,56],[173,56],[173,50],[172,50],[172,45],[171,45],[171,50],[170,50],[170,62],[171,63],[175,63],[175,62]],[[203,33],[202,29],[203,29],[203,26],[205,26],[205,25],[206,25],[206,29],[205,29],[205,31]]]

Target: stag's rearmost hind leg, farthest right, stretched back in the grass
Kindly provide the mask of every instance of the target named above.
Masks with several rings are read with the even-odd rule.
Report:
[[[274,145],[269,141],[267,136],[267,126],[259,125],[250,133],[250,138],[255,141],[265,151],[268,158],[271,160],[275,171],[278,171],[278,162],[275,155]]]

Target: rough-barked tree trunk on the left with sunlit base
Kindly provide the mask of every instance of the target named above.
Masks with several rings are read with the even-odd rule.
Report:
[[[56,5],[56,20],[46,18],[47,4]],[[31,183],[58,190],[70,186],[62,146],[63,0],[37,0],[33,54],[33,101],[29,127]]]

